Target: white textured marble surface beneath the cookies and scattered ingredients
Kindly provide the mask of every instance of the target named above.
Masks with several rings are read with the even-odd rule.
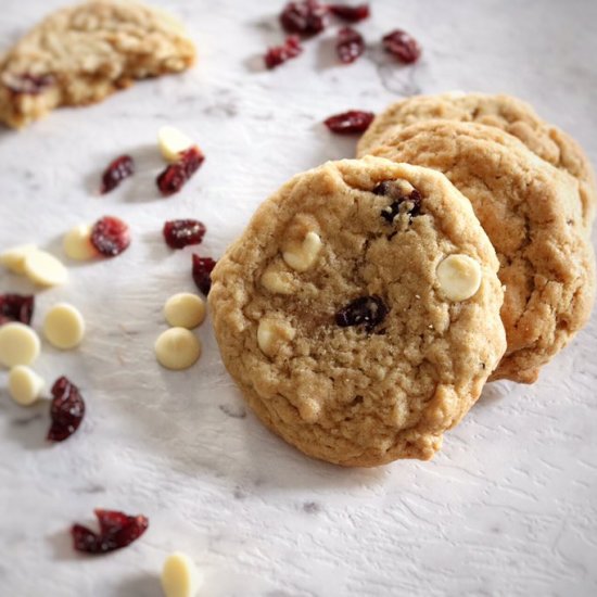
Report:
[[[60,0],[2,0],[7,46]],[[48,404],[23,409],[0,373],[0,594],[157,597],[174,549],[192,555],[211,597],[593,596],[597,594],[597,315],[533,386],[496,383],[431,462],[342,470],[309,460],[265,431],[226,374],[209,329],[204,356],[160,369],[152,345],[173,291],[191,290],[190,251],[172,253],[167,218],[195,216],[219,255],[255,206],[292,174],[350,156],[354,141],[318,124],[350,107],[379,110],[418,91],[507,91],[575,135],[597,162],[594,0],[373,1],[370,40],[401,26],[422,62],[371,51],[338,66],[332,31],[300,60],[256,68],[281,38],[282,0],[162,0],[181,14],[201,60],[180,77],[140,84],[29,129],[0,132],[0,249],[37,241],[60,254],[71,226],[114,214],[134,243],[112,262],[73,266],[38,293],[85,314],[81,350],[45,346],[37,369],[66,373],[87,398],[75,436],[43,441]],[[157,127],[194,135],[207,160],[185,191],[160,199]],[[139,174],[93,193],[115,155]],[[595,239],[595,237],[594,237]],[[0,291],[31,291],[4,271]],[[68,526],[94,507],[150,517],[131,547],[75,555]]]

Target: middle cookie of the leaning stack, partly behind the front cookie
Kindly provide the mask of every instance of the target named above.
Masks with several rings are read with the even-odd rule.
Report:
[[[494,127],[427,120],[385,137],[376,155],[435,168],[472,203],[506,287],[508,348],[491,379],[532,383],[586,323],[594,255],[577,181]]]

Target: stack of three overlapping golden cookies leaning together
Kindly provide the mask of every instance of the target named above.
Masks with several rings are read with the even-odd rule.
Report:
[[[305,454],[429,459],[485,382],[535,381],[587,321],[595,181],[506,96],[399,102],[358,155],[258,208],[213,271],[216,336],[253,410]]]

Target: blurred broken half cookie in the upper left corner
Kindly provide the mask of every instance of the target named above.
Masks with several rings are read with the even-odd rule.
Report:
[[[0,120],[20,128],[61,105],[99,102],[194,56],[182,25],[158,9],[128,0],[62,9],[0,59]]]

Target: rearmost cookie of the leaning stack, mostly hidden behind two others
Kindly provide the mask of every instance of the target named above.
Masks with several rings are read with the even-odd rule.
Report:
[[[430,118],[500,128],[549,164],[571,174],[579,180],[583,221],[587,230],[590,229],[597,206],[597,186],[587,156],[574,139],[542,120],[530,104],[511,96],[453,92],[403,100],[376,117],[359,140],[357,154],[366,155],[376,145],[383,144],[383,137],[394,127],[399,129]]]

